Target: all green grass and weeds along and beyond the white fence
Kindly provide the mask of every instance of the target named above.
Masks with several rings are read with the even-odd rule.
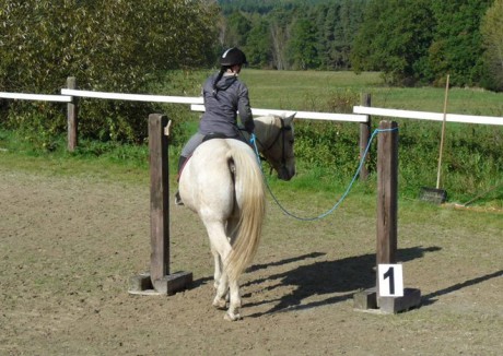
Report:
[[[152,94],[198,96],[200,85],[211,71],[168,73],[164,83],[152,86]],[[264,71],[245,69],[241,79],[248,85],[253,107],[351,112],[361,93],[372,94],[373,106],[424,111],[442,111],[444,88],[388,87],[378,73],[320,71]],[[176,171],[177,155],[187,138],[196,131],[200,114],[179,105],[166,105],[174,120],[175,138],[169,147],[171,171]],[[452,88],[448,111],[503,117],[503,94],[481,90]],[[420,188],[434,187],[441,123],[397,119],[400,129],[399,189],[402,199],[417,199]],[[378,118],[373,121],[375,124]],[[278,191],[340,195],[359,164],[355,123],[302,120],[296,123],[297,176],[283,183],[270,183]],[[148,146],[80,140],[75,153],[66,150],[66,138],[50,150],[40,150],[21,134],[0,127],[0,163],[16,169],[48,174],[77,174],[144,181],[148,178]],[[374,150],[374,149],[373,149]],[[467,202],[503,180],[503,127],[447,124],[444,151],[443,188],[449,200]],[[375,154],[374,154],[375,155]],[[371,159],[375,170],[375,157]],[[267,168],[266,168],[267,169]],[[175,174],[172,174],[174,180]],[[374,194],[375,176],[367,183],[356,181],[353,190]],[[503,188],[479,199],[476,204],[503,206]]]

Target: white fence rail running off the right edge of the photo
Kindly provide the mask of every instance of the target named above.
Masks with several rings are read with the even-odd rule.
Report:
[[[373,116],[403,118],[403,119],[431,120],[431,121],[442,121],[444,119],[444,115],[441,112],[409,111],[409,110],[385,109],[385,108],[369,107],[369,106],[354,106],[353,112],[373,115]],[[445,121],[446,122],[482,123],[482,124],[503,126],[503,117],[494,117],[494,116],[447,114],[445,116]]]

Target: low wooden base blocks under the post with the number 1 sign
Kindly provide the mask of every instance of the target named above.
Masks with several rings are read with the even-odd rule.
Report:
[[[377,304],[377,290],[374,287],[354,294],[353,302],[356,310],[398,313],[418,308],[421,305],[421,290],[403,288],[402,297],[381,297]]]

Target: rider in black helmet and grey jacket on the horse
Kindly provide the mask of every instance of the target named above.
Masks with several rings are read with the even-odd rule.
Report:
[[[225,50],[220,57],[220,72],[212,74],[203,84],[202,96],[204,114],[199,122],[199,130],[185,144],[178,161],[178,179],[185,162],[206,137],[230,138],[245,141],[237,127],[237,111],[244,129],[253,133],[255,123],[249,106],[248,88],[237,76],[246,64],[245,54],[237,47]],[[182,205],[179,192],[175,203]]]

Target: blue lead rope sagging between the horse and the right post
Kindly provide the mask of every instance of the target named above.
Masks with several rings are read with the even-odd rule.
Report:
[[[363,153],[363,156],[360,159],[360,164],[358,166],[356,173],[354,174],[353,178],[351,179],[351,182],[349,183],[349,186],[346,189],[346,191],[342,194],[342,197],[328,211],[326,211],[325,213],[323,213],[323,214],[320,214],[318,216],[313,216],[313,217],[301,217],[301,216],[294,215],[294,214],[290,213],[286,209],[284,209],[283,205],[281,205],[281,203],[276,198],[274,193],[272,192],[271,187],[267,182],[266,175],[264,174],[264,170],[261,169],[260,157],[259,157],[259,154],[258,154],[258,149],[257,149],[256,139],[255,139],[254,133],[252,134],[249,142],[253,144],[253,146],[255,149],[255,154],[257,155],[258,164],[260,166],[260,171],[262,173],[264,180],[266,181],[266,187],[269,190],[269,193],[271,194],[271,197],[274,200],[274,202],[278,204],[278,206],[283,211],[284,214],[286,214],[290,217],[293,217],[293,218],[296,218],[296,219],[303,221],[303,222],[315,222],[315,221],[321,219],[321,218],[328,216],[329,214],[334,213],[334,211],[342,203],[342,201],[346,199],[346,197],[348,197],[349,192],[351,191],[351,188],[354,185],[354,181],[356,180],[356,177],[360,175],[360,171],[362,170],[362,167],[363,167],[363,164],[365,163],[365,158],[366,158],[366,155],[369,154],[369,150],[371,147],[372,141],[377,135],[377,133],[379,133],[379,132],[388,132],[388,131],[396,131],[396,130],[398,130],[398,128],[375,129],[374,132],[372,132],[371,139],[369,140],[369,144],[366,145],[365,151]]]

